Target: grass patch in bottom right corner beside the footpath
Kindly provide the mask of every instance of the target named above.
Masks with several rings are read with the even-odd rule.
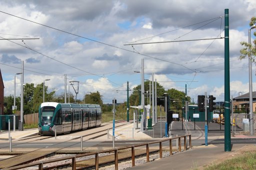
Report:
[[[246,152],[237,158],[209,166],[205,170],[256,170],[256,153]]]

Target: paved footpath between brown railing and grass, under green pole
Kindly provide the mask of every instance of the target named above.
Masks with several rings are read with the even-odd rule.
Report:
[[[161,170],[203,169],[205,165],[209,165],[214,161],[225,157],[231,157],[242,147],[245,147],[244,144],[236,144],[232,146],[231,152],[224,152],[224,145],[200,146],[170,157],[130,168],[130,170],[156,170],[157,168],[160,168]]]

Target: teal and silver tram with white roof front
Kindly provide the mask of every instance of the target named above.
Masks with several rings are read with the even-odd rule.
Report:
[[[45,102],[38,111],[40,135],[65,134],[101,125],[101,108],[96,104]]]

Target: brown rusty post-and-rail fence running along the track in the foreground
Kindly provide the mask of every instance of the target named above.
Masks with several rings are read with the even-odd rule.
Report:
[[[86,154],[78,154],[76,156],[67,156],[63,158],[58,158],[58,159],[53,159],[53,160],[48,160],[48,161],[42,161],[42,162],[36,162],[36,163],[29,163],[29,164],[24,164],[20,166],[15,166],[15,167],[9,167],[5,168],[3,170],[18,170],[21,168],[27,168],[27,167],[32,167],[32,166],[38,166],[38,170],[43,170],[43,164],[48,164],[48,163],[53,163],[53,162],[58,162],[58,161],[63,161],[63,160],[71,160],[71,167],[72,170],[76,170],[76,158],[80,157],[86,157],[86,156],[91,156],[95,155],[95,170],[99,169],[99,154],[101,153],[109,153],[113,152],[114,153],[114,167],[115,170],[118,170],[118,152],[121,150],[126,150],[126,149],[131,149],[131,166],[135,166],[135,148],[136,147],[141,147],[145,146],[146,147],[146,162],[149,162],[149,146],[151,144],[159,144],[159,158],[162,158],[162,143],[169,141],[169,154],[172,155],[172,140],[178,139],[178,152],[181,152],[181,138],[184,139],[184,151],[187,150],[187,143],[186,143],[186,137],[189,137],[189,149],[191,149],[191,135],[184,135],[184,136],[179,136],[179,137],[174,137],[174,138],[167,138],[164,140],[159,140],[159,141],[154,141],[154,142],[149,142],[149,143],[144,143],[144,144],[139,144],[139,145],[134,145],[134,146],[129,146],[129,147],[121,147],[118,149],[109,149],[109,150],[104,150],[104,151],[99,151],[99,152],[91,152],[91,153],[86,153]],[[177,145],[177,144],[176,144]],[[83,168],[79,168],[83,169]]]

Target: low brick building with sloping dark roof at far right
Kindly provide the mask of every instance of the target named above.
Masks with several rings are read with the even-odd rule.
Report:
[[[233,98],[233,109],[249,113],[249,93]],[[252,92],[252,112],[256,112],[256,91]]]

